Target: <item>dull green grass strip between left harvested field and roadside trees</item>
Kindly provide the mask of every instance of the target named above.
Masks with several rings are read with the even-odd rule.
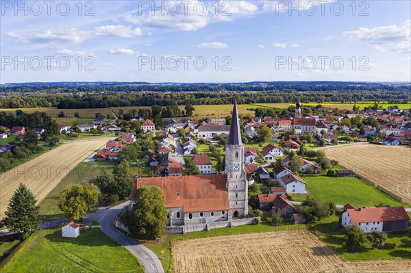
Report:
[[[112,170],[116,165],[115,162],[82,162],[78,164],[69,174],[54,187],[54,189],[47,195],[47,197],[40,203],[40,212],[45,217],[45,222],[63,219],[64,214],[58,208],[58,200],[60,194],[65,187],[74,184],[92,182],[101,173],[103,168]]]

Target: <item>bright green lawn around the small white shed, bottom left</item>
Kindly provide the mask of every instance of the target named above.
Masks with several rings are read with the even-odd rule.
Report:
[[[4,266],[2,272],[144,272],[126,248],[99,226],[62,237],[60,229],[42,230]]]

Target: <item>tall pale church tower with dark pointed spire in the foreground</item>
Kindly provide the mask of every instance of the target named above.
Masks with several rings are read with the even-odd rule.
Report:
[[[229,209],[234,217],[247,217],[248,183],[244,170],[244,145],[241,141],[237,101],[234,102],[232,123],[229,127],[228,142],[225,145],[225,174]]]

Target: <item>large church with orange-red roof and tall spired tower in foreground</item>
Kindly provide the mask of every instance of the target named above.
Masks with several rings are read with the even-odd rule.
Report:
[[[168,226],[207,224],[248,218],[248,183],[244,170],[237,102],[234,103],[228,142],[225,146],[224,174],[135,179],[130,208],[136,190],[157,185],[164,193]]]

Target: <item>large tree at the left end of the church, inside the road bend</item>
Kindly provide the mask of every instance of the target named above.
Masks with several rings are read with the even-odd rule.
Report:
[[[141,187],[136,191],[134,206],[129,213],[129,231],[143,238],[161,237],[166,229],[165,198],[158,186]]]

